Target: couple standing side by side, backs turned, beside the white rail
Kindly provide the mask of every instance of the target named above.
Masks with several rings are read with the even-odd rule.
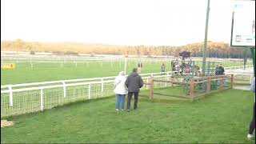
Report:
[[[134,95],[134,110],[138,109],[138,92],[143,86],[142,77],[138,74],[138,69],[134,68],[133,72],[126,78],[125,72],[121,71],[114,80],[114,93],[117,94],[115,110],[125,109],[125,99],[128,92],[126,110],[130,111],[130,100]]]

